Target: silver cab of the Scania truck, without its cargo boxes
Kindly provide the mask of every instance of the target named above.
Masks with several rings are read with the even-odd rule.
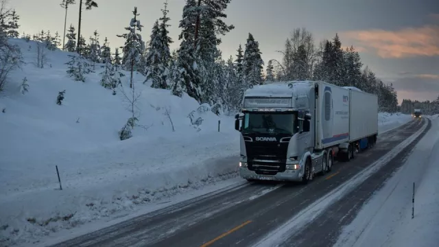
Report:
[[[242,178],[312,178],[315,94],[313,82],[273,83],[246,91],[241,113],[235,116],[235,129],[241,132]]]

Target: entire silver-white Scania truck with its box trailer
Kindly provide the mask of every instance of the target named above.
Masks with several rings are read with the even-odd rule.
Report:
[[[376,143],[378,98],[322,81],[252,86],[235,130],[241,178],[308,183]]]

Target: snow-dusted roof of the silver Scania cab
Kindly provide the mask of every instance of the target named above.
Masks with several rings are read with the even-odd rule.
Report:
[[[288,81],[288,82],[267,82],[264,85],[253,86],[247,89],[245,97],[293,97],[294,91],[309,89],[315,81]],[[292,84],[292,87],[289,87]]]

